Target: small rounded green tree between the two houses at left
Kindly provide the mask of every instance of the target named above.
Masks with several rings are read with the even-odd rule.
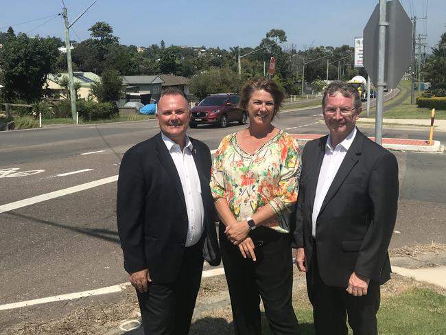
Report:
[[[101,79],[91,85],[91,91],[99,102],[117,102],[123,93],[119,72],[113,69],[104,71]]]

